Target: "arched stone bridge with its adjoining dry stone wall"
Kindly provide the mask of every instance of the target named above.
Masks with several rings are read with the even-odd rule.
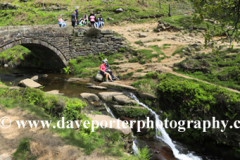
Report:
[[[98,36],[86,35],[88,28],[56,26],[18,26],[0,28],[0,53],[22,45],[36,54],[46,66],[63,68],[68,61],[89,54],[116,53],[124,48],[123,38],[111,30],[101,30]]]

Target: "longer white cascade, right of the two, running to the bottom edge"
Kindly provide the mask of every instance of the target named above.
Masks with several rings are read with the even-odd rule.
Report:
[[[189,153],[187,155],[180,154],[180,152],[177,150],[176,146],[173,144],[172,139],[169,137],[169,135],[165,131],[164,127],[162,127],[162,122],[159,119],[159,117],[156,114],[156,112],[154,112],[152,109],[150,109],[147,105],[145,105],[142,102],[140,102],[138,100],[138,98],[133,93],[126,93],[126,94],[129,95],[129,97],[131,97],[134,100],[136,100],[139,105],[142,105],[143,107],[147,108],[151,112],[151,114],[155,116],[155,121],[156,121],[156,126],[155,126],[155,128],[156,128],[156,138],[159,139],[159,140],[162,140],[166,144],[168,144],[169,147],[172,149],[173,154],[174,154],[174,156],[176,158],[178,158],[180,160],[202,160],[202,158],[200,158],[198,156],[194,156],[192,153]],[[159,135],[159,133],[160,133],[160,135]]]

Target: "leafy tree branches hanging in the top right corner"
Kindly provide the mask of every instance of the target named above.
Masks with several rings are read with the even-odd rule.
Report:
[[[205,18],[215,19],[226,39],[239,42],[240,1],[239,0],[193,0],[195,7],[194,21],[201,23]],[[206,42],[212,37],[208,31]]]

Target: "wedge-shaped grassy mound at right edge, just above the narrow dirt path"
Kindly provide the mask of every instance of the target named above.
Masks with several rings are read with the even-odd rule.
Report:
[[[198,54],[175,64],[175,71],[217,85],[240,90],[239,49]]]

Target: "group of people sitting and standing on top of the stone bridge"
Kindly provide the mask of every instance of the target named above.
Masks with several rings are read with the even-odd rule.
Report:
[[[71,22],[73,27],[75,27],[75,25],[87,25],[88,22],[90,22],[92,28],[95,27],[98,29],[100,27],[103,27],[104,21],[101,15],[99,15],[99,17],[97,18],[93,13],[91,13],[89,16],[87,15],[87,13],[85,13],[83,17],[78,20],[78,9],[79,8],[77,7],[77,9],[71,15]],[[60,27],[66,27],[66,23],[63,21],[62,16],[59,16],[58,24],[60,25]]]

